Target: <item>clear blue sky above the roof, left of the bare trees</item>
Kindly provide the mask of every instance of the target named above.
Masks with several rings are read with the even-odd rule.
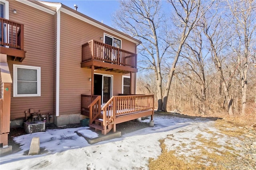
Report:
[[[47,2],[60,2],[72,9],[78,5],[78,12],[85,14],[112,27],[112,14],[118,9],[117,0],[44,0]]]

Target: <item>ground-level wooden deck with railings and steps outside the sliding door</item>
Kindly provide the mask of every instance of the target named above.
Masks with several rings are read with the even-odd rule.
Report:
[[[92,98],[94,98],[93,101]],[[81,110],[87,111],[90,117],[90,127],[102,131],[106,135],[116,124],[154,115],[154,95],[113,96],[103,107],[100,105],[101,96],[81,96]],[[91,103],[88,105],[89,101]]]

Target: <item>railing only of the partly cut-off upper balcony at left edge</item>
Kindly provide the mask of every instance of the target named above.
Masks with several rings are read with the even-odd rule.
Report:
[[[0,45],[24,50],[24,25],[0,18]]]

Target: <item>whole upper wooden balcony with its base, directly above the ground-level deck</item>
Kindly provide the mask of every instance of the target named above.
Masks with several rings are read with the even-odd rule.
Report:
[[[137,55],[92,40],[82,45],[81,67],[112,72],[138,72]]]

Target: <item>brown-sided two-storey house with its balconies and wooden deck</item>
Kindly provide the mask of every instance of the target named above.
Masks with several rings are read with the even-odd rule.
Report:
[[[117,123],[153,115],[153,95],[119,96],[136,92],[140,41],[61,3],[0,3],[3,146],[10,126],[29,119],[61,126],[88,116],[106,134],[113,114],[126,115]]]

